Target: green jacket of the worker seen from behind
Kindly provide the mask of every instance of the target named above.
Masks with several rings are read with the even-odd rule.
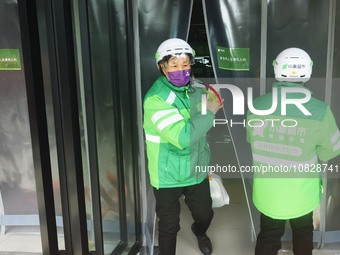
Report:
[[[253,202],[260,212],[271,218],[292,219],[319,205],[322,192],[320,174],[329,170],[318,163],[340,154],[340,133],[329,106],[313,97],[303,104],[312,115],[304,115],[294,105],[287,106],[286,116],[281,115],[281,88],[304,86],[275,82],[273,87],[278,88],[277,110],[270,116],[250,112],[247,116],[247,123],[251,121],[251,125],[247,125],[247,140],[252,148],[253,166],[257,169],[267,167],[272,171],[254,173]],[[304,95],[288,93],[287,97],[303,98]],[[272,93],[255,99],[253,104],[258,110],[270,109]],[[287,119],[290,121],[284,121],[282,125]],[[256,124],[260,123],[258,120],[266,124]],[[259,127],[251,127],[256,125]],[[334,166],[330,167],[335,170]]]

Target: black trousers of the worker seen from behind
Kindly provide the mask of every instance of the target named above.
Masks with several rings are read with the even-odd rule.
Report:
[[[294,255],[312,255],[313,212],[290,219],[293,231]],[[277,255],[281,249],[281,237],[285,232],[286,220],[272,219],[261,213],[261,230],[257,236],[255,255]]]

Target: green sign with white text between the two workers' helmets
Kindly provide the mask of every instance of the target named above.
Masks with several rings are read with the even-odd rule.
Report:
[[[217,46],[218,68],[232,71],[249,71],[249,48]]]

